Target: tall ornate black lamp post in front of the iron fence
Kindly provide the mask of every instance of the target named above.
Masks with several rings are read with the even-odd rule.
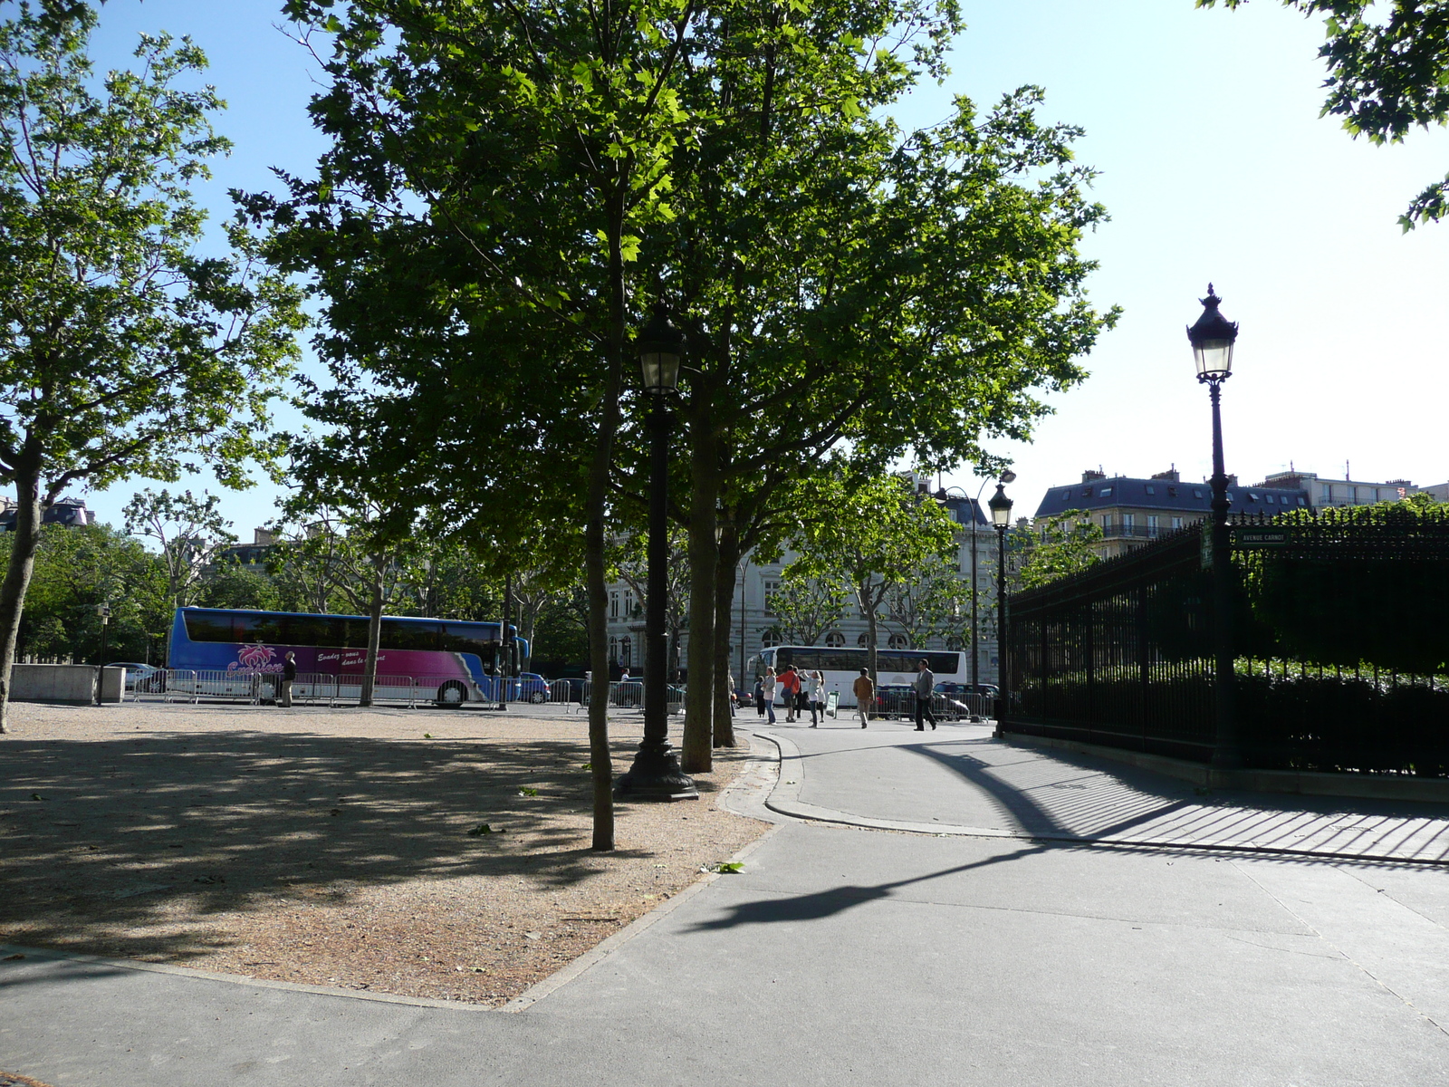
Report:
[[[1187,330],[1197,362],[1197,380],[1207,384],[1213,400],[1213,701],[1216,703],[1216,741],[1213,765],[1237,770],[1243,765],[1237,745],[1237,722],[1233,717],[1233,557],[1232,530],[1227,528],[1227,471],[1223,468],[1223,419],[1219,401],[1223,383],[1233,372],[1233,343],[1237,322],[1217,312],[1222,299],[1207,284],[1203,316]]]

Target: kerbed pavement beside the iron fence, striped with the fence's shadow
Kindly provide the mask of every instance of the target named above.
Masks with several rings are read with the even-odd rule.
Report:
[[[1449,806],[1204,790],[1110,759],[991,739],[988,725],[916,732],[759,729],[781,745],[785,815],[927,833],[1175,845],[1449,864]]]

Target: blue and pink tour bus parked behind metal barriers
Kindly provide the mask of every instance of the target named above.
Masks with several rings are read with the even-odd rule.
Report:
[[[358,686],[367,662],[365,616],[178,607],[171,626],[168,667],[216,677],[259,677],[275,681],[288,652],[297,654],[298,681],[329,677]],[[500,623],[384,616],[377,654],[380,677],[407,677],[420,696],[440,706],[465,701],[545,701],[540,677],[519,675],[527,642],[510,630],[510,657],[503,659]],[[511,677],[511,678],[510,678]],[[504,688],[506,684],[506,688]],[[384,684],[385,686],[385,684]]]

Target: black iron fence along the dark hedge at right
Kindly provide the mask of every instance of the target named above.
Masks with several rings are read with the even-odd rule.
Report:
[[[1449,775],[1449,509],[1237,517],[1235,719],[1246,765]],[[1003,728],[1206,762],[1204,526],[1010,599]]]

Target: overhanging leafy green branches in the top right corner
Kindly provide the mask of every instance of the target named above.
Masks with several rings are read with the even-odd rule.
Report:
[[[1371,143],[1400,143],[1413,128],[1449,123],[1449,0],[1282,0],[1323,14],[1329,94],[1320,116]],[[1223,0],[1237,7],[1246,0]],[[1214,7],[1217,0],[1197,0]],[[1385,13],[1387,9],[1387,13]],[[1398,217],[1410,230],[1445,217],[1449,175],[1426,187]]]

